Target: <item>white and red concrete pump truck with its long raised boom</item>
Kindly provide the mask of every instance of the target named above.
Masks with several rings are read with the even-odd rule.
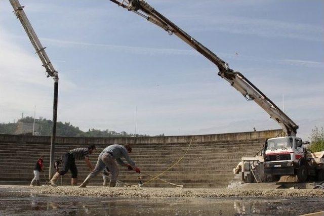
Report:
[[[263,175],[277,181],[280,176],[297,176],[298,182],[308,178],[324,181],[323,153],[311,153],[303,146],[302,139],[296,137],[298,125],[282,112],[267,96],[265,96],[251,81],[240,72],[229,68],[228,64],[197,40],[157,12],[143,0],[110,0],[119,7],[140,15],[147,21],[163,28],[169,35],[175,34],[190,47],[205,56],[218,67],[218,75],[228,81],[247,100],[256,102],[265,110],[285,132],[285,137],[270,138],[265,141],[262,150]],[[259,157],[260,158],[260,157]],[[245,170],[242,165],[242,172]]]

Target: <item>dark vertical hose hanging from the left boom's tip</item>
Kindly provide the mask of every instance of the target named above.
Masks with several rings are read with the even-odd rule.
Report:
[[[59,90],[59,79],[54,78],[53,129],[52,129],[52,139],[51,139],[49,179],[52,179],[52,172],[53,172],[53,165],[54,165],[58,90]]]

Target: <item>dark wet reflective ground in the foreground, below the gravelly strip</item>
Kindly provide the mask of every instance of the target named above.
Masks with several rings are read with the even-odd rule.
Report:
[[[125,199],[0,191],[0,215],[296,215],[321,210],[322,198]]]

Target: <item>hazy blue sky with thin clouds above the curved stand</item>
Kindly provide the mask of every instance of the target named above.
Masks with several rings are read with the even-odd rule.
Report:
[[[284,105],[297,136],[324,126],[323,1],[147,2]],[[20,3],[59,72],[58,121],[127,133],[136,121],[151,136],[280,128],[208,59],[108,0]],[[12,11],[0,0],[0,122],[34,106],[52,119],[54,82]]]

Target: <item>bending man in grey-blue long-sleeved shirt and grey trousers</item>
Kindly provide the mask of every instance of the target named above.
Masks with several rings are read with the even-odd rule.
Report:
[[[85,188],[90,180],[97,176],[100,171],[102,171],[105,167],[108,167],[110,172],[110,181],[109,181],[109,187],[115,187],[117,183],[117,178],[119,175],[119,168],[116,164],[116,161],[121,166],[128,167],[129,170],[135,170],[136,172],[140,173],[141,170],[136,166],[136,164],[131,160],[128,153],[132,152],[132,147],[128,144],[122,146],[118,144],[110,145],[107,148],[105,148],[98,157],[97,164],[95,166],[95,169],[90,172],[88,177],[85,179],[85,181],[79,186],[80,188]],[[120,158],[124,157],[126,161],[129,163],[125,163]]]

